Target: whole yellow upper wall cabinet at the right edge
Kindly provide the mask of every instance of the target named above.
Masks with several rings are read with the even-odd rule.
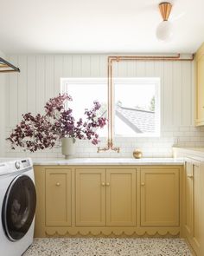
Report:
[[[195,125],[204,125],[204,44],[195,55]]]

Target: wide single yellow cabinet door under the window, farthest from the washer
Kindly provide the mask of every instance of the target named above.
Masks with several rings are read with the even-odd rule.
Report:
[[[141,226],[179,226],[179,169],[141,169]]]

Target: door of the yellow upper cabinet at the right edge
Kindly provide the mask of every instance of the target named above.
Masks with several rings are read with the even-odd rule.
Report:
[[[198,122],[204,122],[204,56],[196,62],[196,71],[196,118]]]

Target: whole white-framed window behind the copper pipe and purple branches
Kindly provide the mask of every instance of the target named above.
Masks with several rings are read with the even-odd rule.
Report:
[[[160,79],[115,78],[113,79],[115,136],[153,137],[160,135]],[[102,105],[100,115],[107,116],[107,80],[105,78],[61,78],[61,93],[72,95],[76,119],[91,108],[93,101]],[[99,130],[107,136],[107,128]]]

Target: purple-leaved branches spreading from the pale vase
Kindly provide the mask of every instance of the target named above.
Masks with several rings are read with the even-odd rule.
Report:
[[[22,121],[7,138],[11,148],[21,147],[35,152],[39,149],[53,148],[56,141],[66,136],[92,140],[93,145],[98,144],[99,135],[96,130],[104,128],[107,121],[103,116],[97,117],[101,107],[99,102],[93,102],[91,109],[85,109],[85,121],[82,118],[75,121],[73,109],[65,108],[67,101],[72,101],[70,95],[58,95],[46,103],[45,115],[22,115]]]

